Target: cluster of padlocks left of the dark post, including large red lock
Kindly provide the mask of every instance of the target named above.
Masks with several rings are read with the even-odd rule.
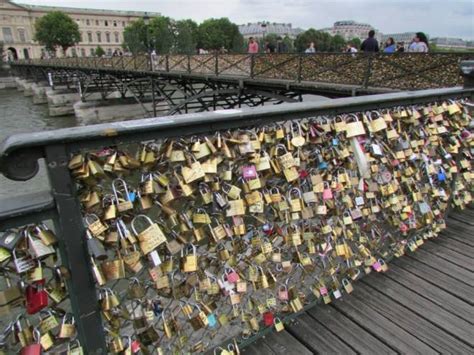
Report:
[[[0,233],[0,353],[80,354],[56,235],[44,224]]]

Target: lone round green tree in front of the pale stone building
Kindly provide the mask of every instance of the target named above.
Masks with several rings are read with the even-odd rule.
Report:
[[[39,18],[35,23],[35,32],[35,40],[51,52],[59,47],[66,53],[69,47],[81,41],[79,26],[61,11],[53,11]]]

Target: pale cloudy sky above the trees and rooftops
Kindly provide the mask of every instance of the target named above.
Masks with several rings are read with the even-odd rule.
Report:
[[[197,22],[228,17],[237,24],[292,23],[319,29],[335,21],[369,23],[383,33],[423,31],[474,40],[474,0],[17,0],[18,3],[160,12]]]

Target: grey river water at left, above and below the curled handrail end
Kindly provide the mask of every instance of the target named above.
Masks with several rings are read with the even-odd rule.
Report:
[[[74,116],[49,117],[48,105],[33,105],[16,89],[0,90],[0,142],[15,133],[37,132],[76,126]],[[44,166],[27,182],[15,182],[0,175],[0,199],[48,189]]]

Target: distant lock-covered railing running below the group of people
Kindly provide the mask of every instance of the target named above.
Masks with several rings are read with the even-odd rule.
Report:
[[[203,54],[31,59],[15,65],[126,70],[209,78],[285,80],[420,90],[462,84],[459,63],[472,53]]]

